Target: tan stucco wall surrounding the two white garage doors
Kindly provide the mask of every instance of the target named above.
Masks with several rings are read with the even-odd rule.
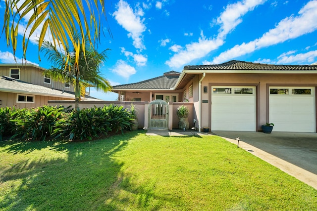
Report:
[[[254,85],[257,86],[257,128],[269,122],[267,114],[268,86],[317,86],[317,74],[206,74],[202,81],[202,127],[211,127],[211,86],[212,85]],[[208,93],[203,93],[203,87],[208,86]],[[194,85],[195,87],[195,85]],[[198,83],[197,83],[198,90]],[[197,93],[198,91],[194,92]],[[196,98],[195,98],[196,100]]]

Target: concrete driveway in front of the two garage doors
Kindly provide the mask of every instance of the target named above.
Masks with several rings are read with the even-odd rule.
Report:
[[[317,189],[317,133],[212,132]]]

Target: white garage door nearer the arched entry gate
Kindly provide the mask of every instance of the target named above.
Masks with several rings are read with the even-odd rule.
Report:
[[[256,131],[255,86],[211,86],[211,130]]]

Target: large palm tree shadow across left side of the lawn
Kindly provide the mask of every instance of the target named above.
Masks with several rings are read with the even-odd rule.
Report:
[[[13,160],[0,169],[0,186],[6,188],[0,208],[91,210],[117,181],[123,164],[113,154],[135,135],[90,142],[1,142],[0,150],[12,154]]]

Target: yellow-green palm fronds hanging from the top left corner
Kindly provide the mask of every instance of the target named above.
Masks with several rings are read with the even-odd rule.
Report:
[[[86,43],[81,43],[80,40],[86,41],[87,36],[90,46],[100,40],[100,32],[103,29],[101,18],[104,16],[106,19],[104,0],[4,1],[2,33],[5,32],[7,46],[12,45],[14,57],[20,28],[24,28],[22,57],[25,61],[28,42],[33,35],[39,36],[39,51],[45,36],[52,39],[55,48],[58,46],[61,49],[69,49],[73,46],[74,65],[79,64],[80,50],[85,52]],[[27,20],[26,26],[24,26],[25,20]],[[78,29],[80,36],[75,36],[78,32],[72,29]],[[64,56],[65,59],[70,59],[70,55],[64,54]],[[41,61],[40,53],[39,60]]]

